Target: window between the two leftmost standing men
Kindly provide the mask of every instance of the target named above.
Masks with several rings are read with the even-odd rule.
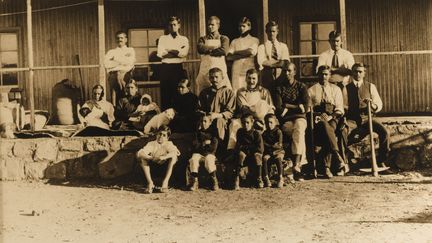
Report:
[[[158,62],[157,41],[164,34],[164,29],[129,29],[129,46],[135,49],[136,62]],[[134,78],[137,81],[158,80],[158,65],[136,67]]]

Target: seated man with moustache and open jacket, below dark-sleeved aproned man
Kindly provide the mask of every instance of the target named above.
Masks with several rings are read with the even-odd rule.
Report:
[[[217,131],[220,140],[225,139],[225,130],[229,119],[235,110],[236,100],[234,92],[224,84],[222,70],[212,68],[209,70],[211,87],[205,88],[199,95],[202,113],[210,113],[213,120],[212,128]]]

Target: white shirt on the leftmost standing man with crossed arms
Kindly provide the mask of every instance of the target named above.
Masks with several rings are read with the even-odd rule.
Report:
[[[105,55],[104,66],[108,72],[127,72],[134,67],[135,61],[135,50],[132,47],[116,47]]]

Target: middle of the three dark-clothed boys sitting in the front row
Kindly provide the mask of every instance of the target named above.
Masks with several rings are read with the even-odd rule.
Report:
[[[261,176],[262,155],[264,152],[263,140],[261,134],[253,128],[254,118],[252,114],[244,114],[241,117],[241,122],[242,128],[237,131],[237,143],[234,149],[237,155],[234,189],[240,189],[240,169],[245,166],[245,162],[247,163],[246,166],[255,170],[254,177],[258,188],[263,188],[264,183]]]

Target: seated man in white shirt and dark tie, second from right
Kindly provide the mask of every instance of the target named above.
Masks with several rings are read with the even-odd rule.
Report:
[[[340,88],[329,82],[331,68],[323,65],[318,68],[319,82],[309,88],[309,96],[315,115],[315,141],[323,147],[323,160],[325,166],[325,175],[332,178],[331,172],[332,159],[337,159],[337,167],[341,170],[341,175],[345,171],[345,161],[339,154],[339,148],[335,130],[339,118],[343,115],[343,99]],[[318,139],[319,138],[319,139]]]

